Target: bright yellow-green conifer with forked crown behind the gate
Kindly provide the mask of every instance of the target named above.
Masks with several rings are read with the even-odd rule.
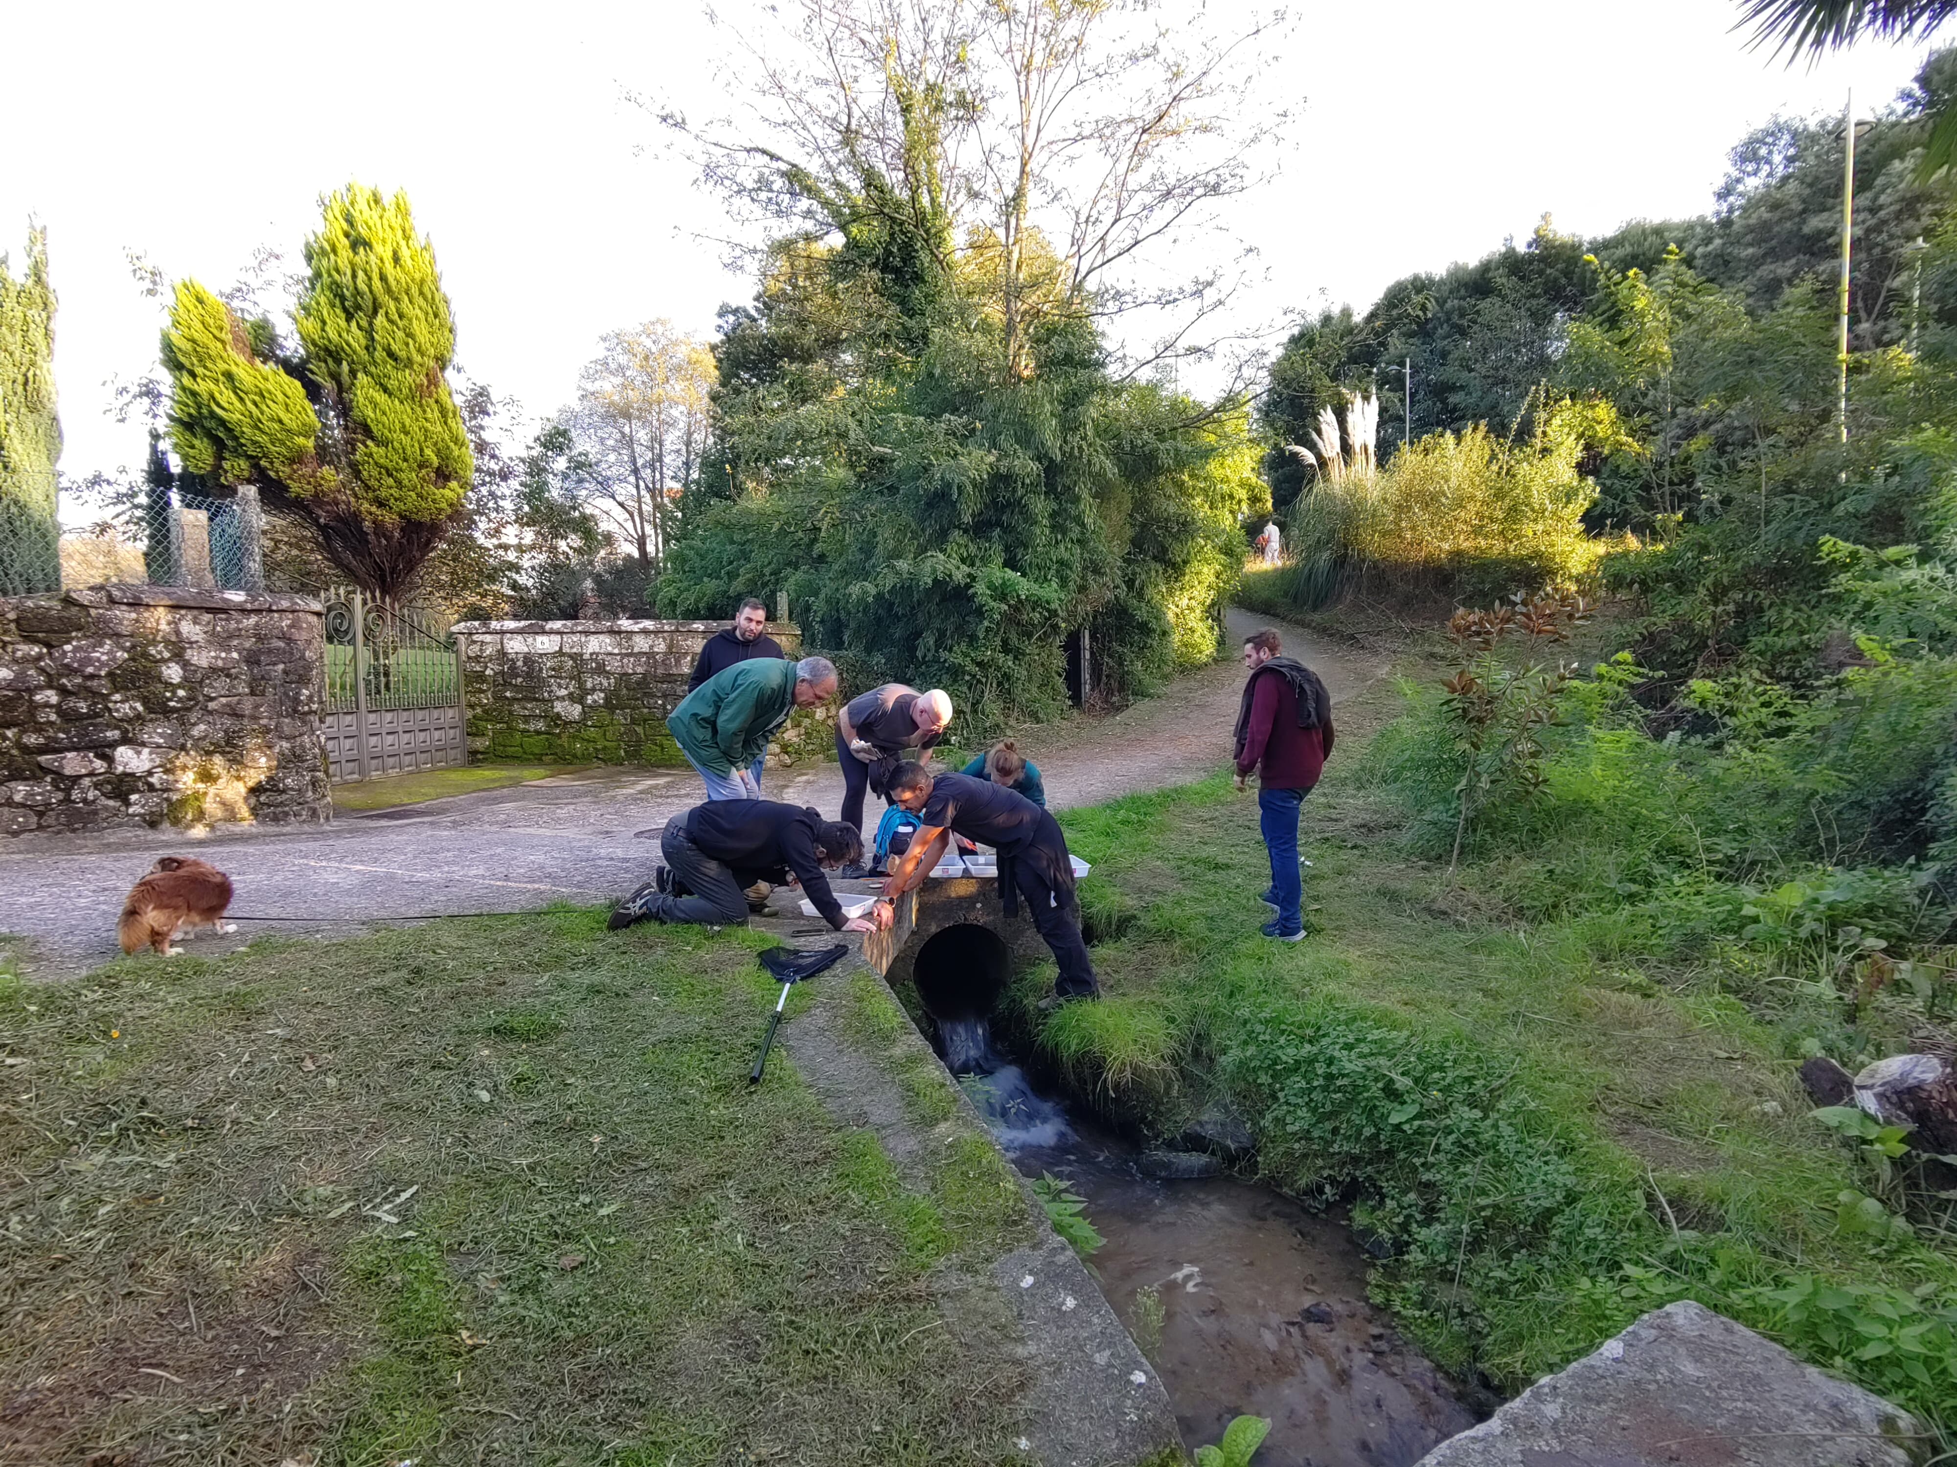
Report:
[[[296,344],[180,282],[162,333],[170,446],[192,473],[256,483],[337,567],[399,597],[464,507],[470,438],[434,250],[407,196],[350,184],[305,243]]]

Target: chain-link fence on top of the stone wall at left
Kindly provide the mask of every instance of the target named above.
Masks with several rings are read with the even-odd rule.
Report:
[[[241,485],[229,499],[151,487],[102,524],[63,534],[59,554],[47,544],[31,565],[18,552],[10,556],[14,544],[33,542],[0,534],[4,595],[106,581],[264,591],[264,514],[250,485]],[[55,559],[49,565],[51,554]],[[10,579],[10,561],[23,565],[23,573]]]

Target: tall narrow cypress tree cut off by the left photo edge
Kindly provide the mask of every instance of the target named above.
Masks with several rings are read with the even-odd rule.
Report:
[[[0,595],[61,589],[59,458],[55,291],[47,231],[35,229],[20,280],[0,254]]]

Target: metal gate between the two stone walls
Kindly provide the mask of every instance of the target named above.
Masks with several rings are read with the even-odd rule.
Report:
[[[466,765],[462,653],[423,612],[327,593],[327,777]]]

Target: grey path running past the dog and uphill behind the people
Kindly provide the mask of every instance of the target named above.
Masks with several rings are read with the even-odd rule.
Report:
[[[1231,610],[1243,638],[1266,618]],[[1388,677],[1389,659],[1276,624],[1288,653],[1313,665],[1333,700]],[[1112,718],[1029,728],[1020,747],[1039,765],[1057,808],[1182,784],[1221,767],[1237,722],[1243,669],[1217,663]],[[769,794],[820,810],[842,806],[842,775],[820,765],[771,777]],[[164,851],[194,849],[237,884],[223,951],[268,933],[344,931],[386,917],[513,911],[554,900],[605,902],[644,880],[660,827],[701,800],[691,771],[611,769],[558,775],[419,806],[341,816],[327,829],[249,831],[194,839],[137,831],[0,847],[0,933],[27,939],[35,972],[80,972],[115,953],[115,913]],[[871,810],[877,810],[871,802]]]

